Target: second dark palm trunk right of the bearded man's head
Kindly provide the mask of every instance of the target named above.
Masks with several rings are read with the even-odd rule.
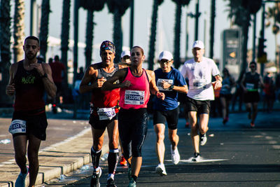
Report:
[[[69,29],[70,29],[70,7],[71,0],[63,0],[62,7],[62,33],[61,37],[61,62],[66,67],[66,72],[68,72],[68,50],[69,50]],[[68,76],[64,78],[64,85],[67,85],[68,88]]]

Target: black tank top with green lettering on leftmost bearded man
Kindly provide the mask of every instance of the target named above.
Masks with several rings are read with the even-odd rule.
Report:
[[[41,61],[38,61],[41,63]],[[23,67],[23,60],[18,62],[15,74],[15,111],[41,111],[45,106],[42,78],[36,69],[27,71]]]

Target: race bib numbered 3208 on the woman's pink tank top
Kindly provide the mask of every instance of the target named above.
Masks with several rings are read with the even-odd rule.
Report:
[[[125,104],[144,104],[145,91],[125,90]]]

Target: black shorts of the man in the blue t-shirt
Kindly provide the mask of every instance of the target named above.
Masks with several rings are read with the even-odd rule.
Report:
[[[165,124],[167,121],[168,128],[171,130],[177,129],[179,118],[179,107],[170,111],[154,111],[153,112],[153,125],[158,123]]]

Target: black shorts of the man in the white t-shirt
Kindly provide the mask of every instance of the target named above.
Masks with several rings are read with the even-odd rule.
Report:
[[[186,103],[187,111],[197,111],[198,114],[210,112],[210,101],[200,101],[188,97],[188,102]]]

